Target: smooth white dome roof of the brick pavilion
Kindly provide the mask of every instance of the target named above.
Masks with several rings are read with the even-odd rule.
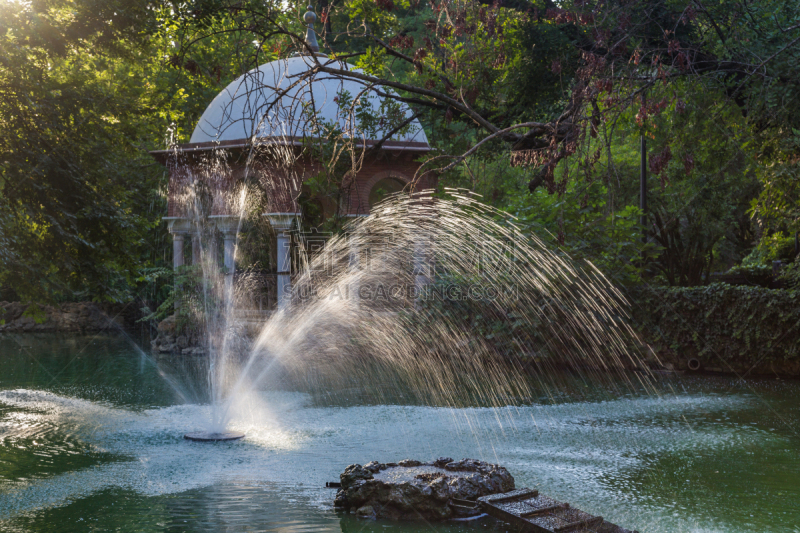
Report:
[[[317,58],[334,68],[362,72],[344,62],[325,57]],[[360,97],[362,105],[368,103],[372,116],[380,119],[382,99],[374,90],[367,90],[364,82],[320,72],[313,78],[299,75],[314,65],[310,56],[294,56],[266,63],[240,76],[220,92],[206,108],[192,133],[191,143],[234,141],[262,137],[315,137],[310,110],[316,111],[319,122],[336,125],[342,132],[356,139],[380,140],[397,122],[383,127],[378,121],[370,127],[361,123],[349,112],[349,106],[340,106],[340,98],[348,93],[350,98]],[[383,92],[391,89],[381,87]],[[389,100],[394,102],[394,100]],[[356,106],[358,107],[358,106]],[[403,105],[403,116],[411,111]],[[428,147],[428,139],[419,121],[411,122],[410,131],[395,134],[385,146],[395,143],[419,148]],[[413,143],[407,145],[405,143]]]

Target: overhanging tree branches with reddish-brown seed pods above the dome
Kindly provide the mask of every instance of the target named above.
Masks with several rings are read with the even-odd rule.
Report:
[[[331,47],[360,41],[345,55],[369,68],[360,75],[320,62],[315,72],[392,87],[410,105],[449,110],[518,150],[541,152],[540,170],[552,170],[554,162],[573,154],[572,145],[598,120],[631,106],[640,107],[643,116],[658,112],[675,82],[720,89],[762,129],[785,123],[785,111],[797,104],[798,79],[789,65],[796,59],[800,26],[792,2],[485,4],[453,0],[429,7],[385,0],[328,6]],[[195,30],[192,40],[182,43],[182,53],[215,35],[217,28],[208,21],[223,14],[263,42],[279,38],[303,46],[298,24],[276,16],[274,6],[225,0],[203,6],[201,22],[181,18]],[[186,27],[182,31],[188,34]],[[538,82],[533,91],[521,90],[532,80]],[[643,105],[640,96],[657,87],[662,87],[657,97]],[[783,99],[776,108],[779,94]],[[499,133],[536,116],[541,122],[526,132]]]

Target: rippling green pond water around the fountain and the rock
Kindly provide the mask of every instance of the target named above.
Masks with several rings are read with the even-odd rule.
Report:
[[[0,531],[506,531],[358,520],[324,488],[351,463],[449,456],[642,533],[800,532],[800,383],[547,382],[499,409],[377,400],[379,383],[263,391],[233,422],[247,437],[209,445],[182,438],[209,416],[196,361],[121,336],[0,335]]]

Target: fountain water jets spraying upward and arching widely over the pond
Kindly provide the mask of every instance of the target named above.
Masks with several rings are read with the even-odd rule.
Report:
[[[252,196],[237,193],[241,206]],[[334,390],[381,375],[385,397],[500,407],[531,397],[530,375],[547,380],[555,366],[642,368],[625,300],[602,274],[465,191],[397,193],[295,258],[290,297],[254,338],[236,313],[253,296],[249,278],[234,284],[209,248],[202,283],[182,302],[206,335],[213,406],[190,440],[242,438],[228,427],[233,413],[287,385]]]

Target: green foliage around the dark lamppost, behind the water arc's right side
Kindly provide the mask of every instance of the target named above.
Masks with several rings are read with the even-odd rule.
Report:
[[[755,240],[747,214],[759,193],[757,162],[747,149],[752,135],[720,95],[693,94],[674,84],[654,88],[649,98],[669,104],[644,128],[635,110],[599,124],[597,140],[556,167],[555,190],[539,187],[528,194],[529,171],[484,156],[443,181],[482,192],[617,283],[704,284],[712,270],[740,261]],[[613,144],[604,145],[612,133]],[[651,163],[646,244],[638,208],[641,133]]]

